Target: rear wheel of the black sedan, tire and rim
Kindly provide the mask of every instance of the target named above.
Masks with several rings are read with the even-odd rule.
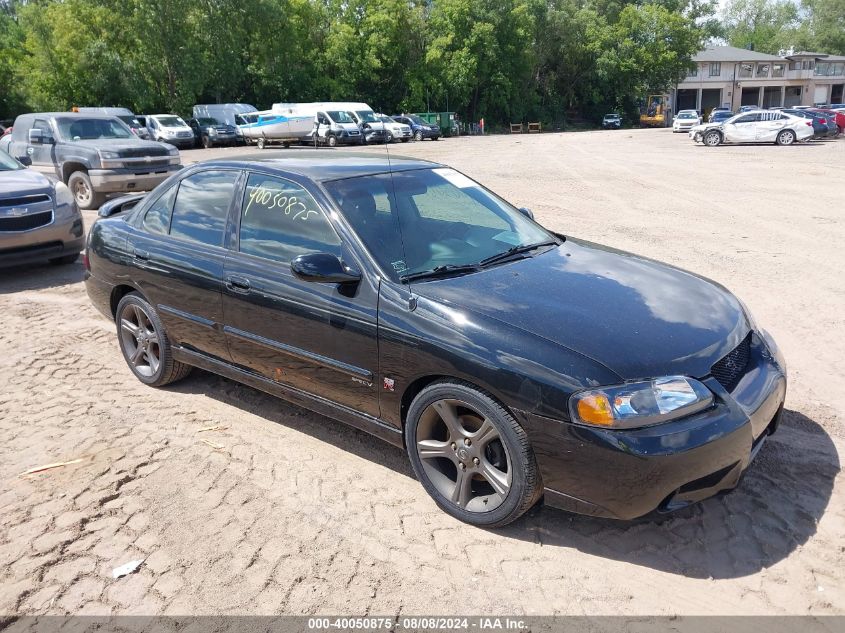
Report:
[[[187,376],[192,367],[173,359],[173,349],[155,309],[137,292],[130,292],[115,311],[120,351],[135,377],[162,387]]]

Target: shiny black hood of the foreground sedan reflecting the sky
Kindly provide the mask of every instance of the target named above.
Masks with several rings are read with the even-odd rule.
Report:
[[[749,330],[739,301],[715,282],[570,239],[413,290],[577,351],[625,380],[705,376]]]

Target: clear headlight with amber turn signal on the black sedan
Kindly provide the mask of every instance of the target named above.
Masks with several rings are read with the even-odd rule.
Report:
[[[713,404],[710,390],[693,378],[666,376],[579,391],[569,400],[573,422],[632,429],[675,420]]]

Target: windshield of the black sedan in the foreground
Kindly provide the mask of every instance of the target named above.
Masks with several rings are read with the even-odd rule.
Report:
[[[440,266],[478,265],[514,247],[557,242],[513,206],[449,168],[361,176],[325,186],[394,281]]]

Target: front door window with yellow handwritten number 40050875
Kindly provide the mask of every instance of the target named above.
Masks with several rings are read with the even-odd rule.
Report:
[[[242,253],[283,263],[307,253],[341,254],[340,238],[328,218],[294,182],[250,174],[242,208]]]

